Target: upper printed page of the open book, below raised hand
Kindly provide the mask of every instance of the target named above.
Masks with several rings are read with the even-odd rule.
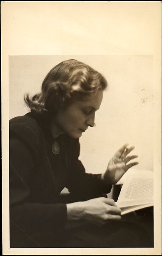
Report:
[[[118,202],[132,200],[153,201],[153,178],[132,177],[125,181]]]

